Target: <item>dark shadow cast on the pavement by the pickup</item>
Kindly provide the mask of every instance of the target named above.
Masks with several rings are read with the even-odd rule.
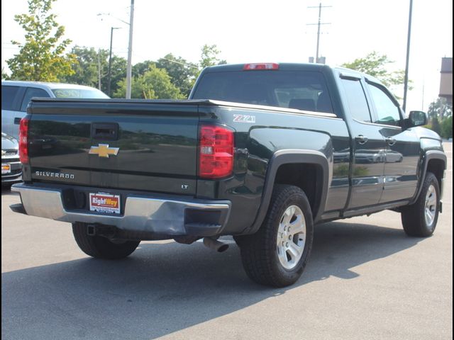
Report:
[[[200,243],[143,243],[121,261],[84,258],[2,273],[2,334],[16,339],[27,334],[35,339],[155,339],[312,281],[355,278],[355,266],[418,242],[401,229],[319,225],[304,276],[281,289],[252,283],[234,244],[217,254]]]

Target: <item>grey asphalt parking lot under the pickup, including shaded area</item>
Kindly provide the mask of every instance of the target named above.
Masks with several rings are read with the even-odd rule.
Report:
[[[79,251],[70,225],[1,193],[2,339],[452,339],[453,163],[433,237],[397,212],[316,227],[296,285],[245,276],[239,249],[143,242],[121,261]]]

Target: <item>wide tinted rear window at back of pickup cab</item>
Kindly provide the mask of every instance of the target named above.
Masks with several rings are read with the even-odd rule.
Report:
[[[333,113],[320,72],[208,72],[200,79],[192,98]]]

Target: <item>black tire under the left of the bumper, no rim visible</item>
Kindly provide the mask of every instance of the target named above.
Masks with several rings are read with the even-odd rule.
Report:
[[[131,255],[140,241],[111,242],[106,237],[87,234],[87,224],[73,223],[72,234],[79,248],[96,259],[118,260]]]

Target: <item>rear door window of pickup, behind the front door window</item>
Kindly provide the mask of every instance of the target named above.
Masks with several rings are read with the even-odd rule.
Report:
[[[350,115],[360,122],[372,123],[364,89],[359,80],[342,79]]]

